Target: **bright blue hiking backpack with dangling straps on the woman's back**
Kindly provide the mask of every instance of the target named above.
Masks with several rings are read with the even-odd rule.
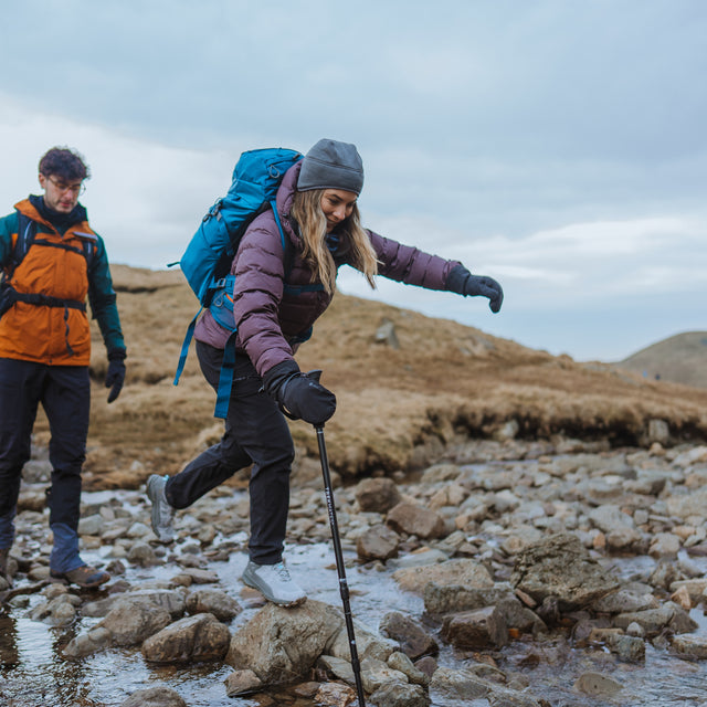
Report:
[[[231,262],[253,219],[271,208],[279,229],[283,257],[287,261],[291,245],[279,222],[275,196],[285,172],[300,159],[299,152],[282,147],[243,152],[233,170],[233,180],[226,196],[218,199],[209,209],[179,261],[181,271],[201,303],[201,308],[187,329],[175,374],[175,386],[179,383],[197,319],[204,307],[209,308],[221,326],[231,331],[223,354],[213,413],[215,418],[225,418],[228,413],[235,363],[233,340],[236,326],[231,298],[234,282],[234,276],[230,274]]]

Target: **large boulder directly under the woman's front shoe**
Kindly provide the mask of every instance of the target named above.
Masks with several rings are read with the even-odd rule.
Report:
[[[292,682],[307,675],[342,623],[340,612],[321,602],[267,604],[233,635],[225,662],[268,685]]]

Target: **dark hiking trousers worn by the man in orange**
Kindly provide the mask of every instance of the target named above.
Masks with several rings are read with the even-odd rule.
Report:
[[[39,404],[49,420],[52,483],[50,527],[78,528],[81,469],[86,458],[91,407],[87,366],[46,366],[0,358],[0,547],[12,544],[22,467],[31,455]],[[9,545],[8,545],[9,540]]]

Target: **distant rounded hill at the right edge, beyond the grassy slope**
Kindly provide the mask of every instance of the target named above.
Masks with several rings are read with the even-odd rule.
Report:
[[[707,388],[707,331],[686,331],[633,354],[618,367],[645,378]]]

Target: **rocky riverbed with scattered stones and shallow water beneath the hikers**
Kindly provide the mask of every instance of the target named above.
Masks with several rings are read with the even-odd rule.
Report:
[[[286,610],[239,580],[244,478],[178,513],[168,547],[143,493],[85,494],[82,552],[113,579],[49,582],[43,457],[0,587],[2,704],[356,703],[316,458],[286,552],[309,599]],[[707,705],[706,479],[707,446],[509,436],[337,486],[367,704]]]

